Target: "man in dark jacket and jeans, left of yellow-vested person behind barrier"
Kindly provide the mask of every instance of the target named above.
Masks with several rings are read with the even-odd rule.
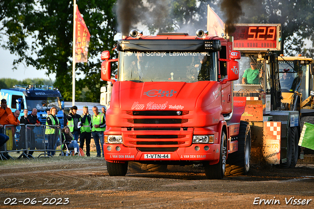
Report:
[[[31,114],[27,116],[27,124],[29,125],[35,125],[36,127],[39,127],[42,125],[42,123],[38,120],[37,117],[37,109],[33,108],[31,111]],[[30,150],[34,150],[36,147],[37,149],[40,149],[41,146],[36,145],[36,139],[37,139],[37,134],[36,132],[40,131],[39,128],[28,128],[27,130],[27,136],[28,136],[28,145]],[[34,151],[29,151],[28,155],[32,155]]]

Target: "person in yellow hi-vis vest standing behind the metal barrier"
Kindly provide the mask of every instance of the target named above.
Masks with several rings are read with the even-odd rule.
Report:
[[[45,133],[48,138],[48,150],[55,150],[57,139],[58,139],[58,134],[56,132],[57,127],[54,127],[54,126],[60,126],[60,122],[59,122],[59,119],[55,116],[57,113],[57,108],[52,107],[50,109],[50,113],[51,114],[48,116],[46,120],[46,132]],[[47,151],[47,153],[54,156],[55,151]]]

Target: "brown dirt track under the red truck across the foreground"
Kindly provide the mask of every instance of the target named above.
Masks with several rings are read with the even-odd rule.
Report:
[[[125,177],[109,177],[105,160],[95,157],[88,160],[84,157],[81,162],[78,158],[70,164],[45,161],[34,166],[2,166],[0,208],[312,209],[314,167],[297,166],[300,167],[257,167],[252,168],[248,176],[226,177],[224,180],[206,180],[200,168],[195,173],[186,173],[180,167],[173,166],[168,166],[172,173],[128,172]],[[289,200],[291,197],[305,199],[308,205],[287,205],[285,198]],[[37,203],[25,205],[29,201],[27,198]],[[69,198],[67,205],[53,203],[66,203],[65,198]],[[265,205],[264,202],[261,205],[253,204],[254,201],[259,203],[261,199],[278,200],[280,204],[278,201],[276,205]],[[5,201],[15,201],[17,204],[4,205]],[[48,204],[43,206],[45,201]]]

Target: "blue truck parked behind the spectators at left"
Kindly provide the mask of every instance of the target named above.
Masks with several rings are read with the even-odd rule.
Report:
[[[57,114],[61,128],[63,127],[63,98],[60,91],[49,85],[14,85],[13,88],[1,89],[0,100],[6,99],[8,107],[14,112],[20,110],[23,116],[23,109],[31,113],[33,108],[37,109],[38,119],[46,124],[47,109],[52,106],[57,108]]]

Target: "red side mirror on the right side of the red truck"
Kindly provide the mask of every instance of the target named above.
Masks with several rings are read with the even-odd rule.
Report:
[[[239,79],[239,63],[236,59],[241,58],[241,53],[238,51],[231,51],[229,55],[229,60],[227,60],[227,75],[228,77],[222,81],[226,83],[227,81],[233,81]]]

